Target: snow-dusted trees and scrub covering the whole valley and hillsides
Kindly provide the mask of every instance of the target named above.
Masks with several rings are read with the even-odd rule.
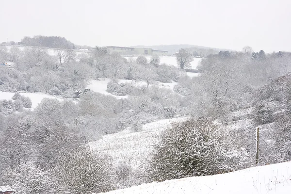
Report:
[[[56,49],[54,56],[2,48],[0,57],[15,64],[0,68],[0,90],[20,92],[0,101],[0,184],[18,193],[98,193],[254,166],[257,127],[259,165],[291,160],[291,53],[221,51],[204,58],[194,78],[159,65],[158,57],[125,60],[98,48],[79,55]],[[128,97],[90,91],[92,79],[111,79],[107,92]],[[177,85],[173,91],[157,81]],[[63,98],[45,98],[31,111],[21,92]],[[104,134],[181,115],[191,119],[163,130],[136,169],[88,146]]]

